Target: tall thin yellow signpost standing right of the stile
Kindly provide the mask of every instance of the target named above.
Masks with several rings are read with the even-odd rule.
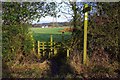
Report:
[[[87,8],[88,4],[84,5]],[[87,64],[87,27],[88,27],[88,11],[84,13],[84,53],[83,53],[83,64]]]

